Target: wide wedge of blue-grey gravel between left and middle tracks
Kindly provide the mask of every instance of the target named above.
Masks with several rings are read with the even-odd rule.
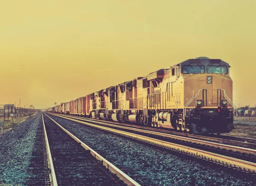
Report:
[[[141,185],[253,185],[166,151],[49,116]]]

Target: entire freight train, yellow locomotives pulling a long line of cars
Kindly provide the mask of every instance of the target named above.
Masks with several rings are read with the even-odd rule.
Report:
[[[188,59],[47,111],[192,134],[228,133],[236,109],[229,72],[221,59]]]

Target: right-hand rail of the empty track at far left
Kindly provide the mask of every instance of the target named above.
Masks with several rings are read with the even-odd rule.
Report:
[[[47,117],[49,117],[46,113],[44,113]],[[84,142],[82,142],[80,139],[75,137],[73,134],[71,134],[67,129],[62,127],[60,124],[55,122],[52,118],[49,117],[56,125],[58,125],[63,131],[65,131],[70,137],[76,140],[76,142],[80,143],[80,145],[90,151],[90,154],[93,155],[97,160],[101,161],[102,164],[107,167],[110,171],[112,171],[114,174],[116,174],[121,180],[123,180],[128,186],[140,186],[139,183],[134,181],[131,177],[129,177],[127,174],[125,174],[123,171],[118,169],[116,166],[114,166],[112,163],[110,163],[108,160],[106,160],[104,157],[99,155],[96,151],[94,151],[92,148],[90,148],[88,145],[86,145]]]

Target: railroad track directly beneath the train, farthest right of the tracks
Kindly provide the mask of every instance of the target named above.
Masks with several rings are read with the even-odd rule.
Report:
[[[56,113],[54,113],[56,114]],[[69,116],[66,114],[58,114],[60,116],[66,116],[70,118],[77,118],[81,119],[82,121],[96,121],[96,122],[104,122],[108,124],[113,124],[113,125],[120,125],[120,126],[125,126],[125,127],[131,127],[131,128],[138,128],[146,131],[155,131],[155,132],[160,132],[164,134],[172,134],[176,136],[181,136],[181,137],[189,137],[193,139],[201,139],[201,140],[206,140],[206,141],[211,141],[211,142],[217,142],[217,143],[222,143],[222,144],[227,144],[227,145],[236,145],[240,147],[245,147],[245,148],[253,148],[256,149],[256,139],[253,138],[244,138],[244,137],[233,137],[233,136],[227,136],[227,135],[212,135],[212,134],[204,134],[204,135],[194,135],[194,134],[186,134],[186,133],[180,133],[176,131],[168,131],[168,130],[163,130],[163,129],[157,129],[157,128],[148,128],[148,127],[143,127],[143,126],[137,126],[137,125],[130,125],[130,124],[123,124],[123,123],[117,123],[117,122],[110,122],[110,121],[102,121],[99,119],[89,119],[89,118],[83,118],[79,116]]]

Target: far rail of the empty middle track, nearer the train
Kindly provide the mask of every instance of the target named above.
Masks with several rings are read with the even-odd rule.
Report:
[[[58,116],[58,115],[55,115],[55,116]],[[63,116],[63,117],[65,117],[65,116]],[[72,118],[72,117],[68,116],[67,118]],[[81,120],[86,121],[86,119],[81,119]],[[101,125],[106,125],[106,126],[111,126],[111,127],[121,128],[121,129],[128,129],[128,130],[131,130],[131,131],[143,132],[143,133],[147,133],[147,134],[154,134],[154,135],[158,135],[158,136],[162,136],[162,137],[169,137],[169,138],[184,140],[184,141],[188,141],[188,142],[195,142],[195,143],[199,143],[199,144],[202,144],[202,145],[209,145],[209,146],[212,146],[212,147],[215,147],[215,148],[223,148],[223,149],[227,149],[227,150],[231,150],[231,151],[239,151],[241,153],[256,155],[256,150],[250,149],[250,148],[243,148],[243,147],[238,147],[238,146],[233,146],[233,145],[225,145],[225,144],[221,144],[221,143],[203,141],[201,139],[181,137],[181,136],[177,136],[177,135],[165,134],[165,133],[155,132],[155,131],[145,131],[145,130],[142,130],[142,129],[130,128],[130,127],[125,127],[125,126],[120,126],[120,125],[113,125],[113,124],[99,122],[99,121],[95,121],[95,120],[93,121],[93,123],[98,123],[98,124],[101,124]]]

